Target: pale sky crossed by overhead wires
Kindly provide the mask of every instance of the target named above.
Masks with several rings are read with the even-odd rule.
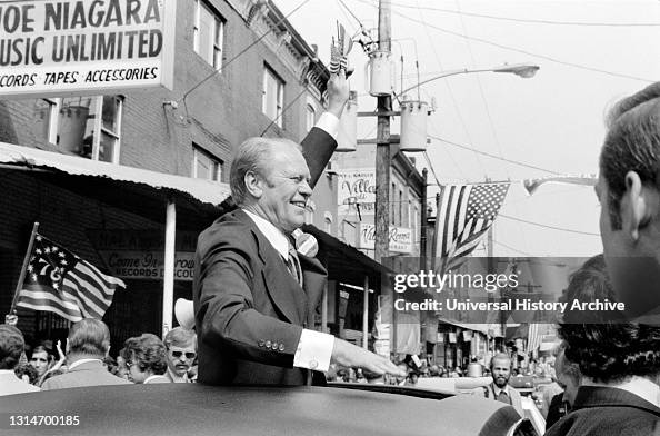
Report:
[[[377,0],[274,3],[286,16],[302,4],[289,21],[308,43],[319,46],[326,63],[337,21],[348,33],[357,33],[360,23],[367,30],[378,26]],[[504,63],[540,67],[530,79],[480,72],[422,86],[421,99],[436,106],[428,129],[430,162],[422,153],[410,156],[420,169],[432,168],[430,184],[436,178],[440,184],[480,182],[487,177],[512,181],[494,225],[496,256],[601,252],[593,188],[546,184],[528,196],[520,181],[552,172],[598,172],[607,109],[660,78],[660,1],[392,0],[392,40],[396,91],[401,90],[401,78],[403,88],[417,82],[416,63],[421,80]],[[376,98],[364,88],[367,61],[354,44],[350,83],[358,91],[360,111],[376,108]],[[358,137],[374,137],[374,121],[361,119]],[[431,186],[429,196],[437,191]]]

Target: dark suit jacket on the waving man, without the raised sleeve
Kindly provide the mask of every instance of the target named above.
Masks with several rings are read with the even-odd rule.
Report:
[[[200,235],[193,285],[198,382],[304,384],[307,371],[292,367],[293,355],[327,271],[317,259],[299,258],[304,289],[240,209]]]

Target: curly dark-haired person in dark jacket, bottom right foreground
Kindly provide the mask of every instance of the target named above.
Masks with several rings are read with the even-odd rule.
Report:
[[[603,256],[589,259],[571,276],[567,295],[569,301],[614,298]],[[567,344],[566,359],[579,366],[581,379],[571,413],[547,435],[660,432],[660,327],[598,311],[569,311],[559,335]]]

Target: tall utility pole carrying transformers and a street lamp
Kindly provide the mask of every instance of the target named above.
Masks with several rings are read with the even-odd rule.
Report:
[[[390,0],[380,0],[378,9],[378,49],[390,51],[392,46]],[[376,135],[376,261],[389,256],[390,242],[390,115],[392,97],[378,97],[378,130]]]

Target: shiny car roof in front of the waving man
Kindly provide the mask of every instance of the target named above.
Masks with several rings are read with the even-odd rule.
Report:
[[[0,410],[6,417],[77,415],[78,426],[58,428],[68,435],[506,435],[519,419],[511,406],[471,396],[437,400],[337,387],[200,384],[10,395],[0,397]]]

